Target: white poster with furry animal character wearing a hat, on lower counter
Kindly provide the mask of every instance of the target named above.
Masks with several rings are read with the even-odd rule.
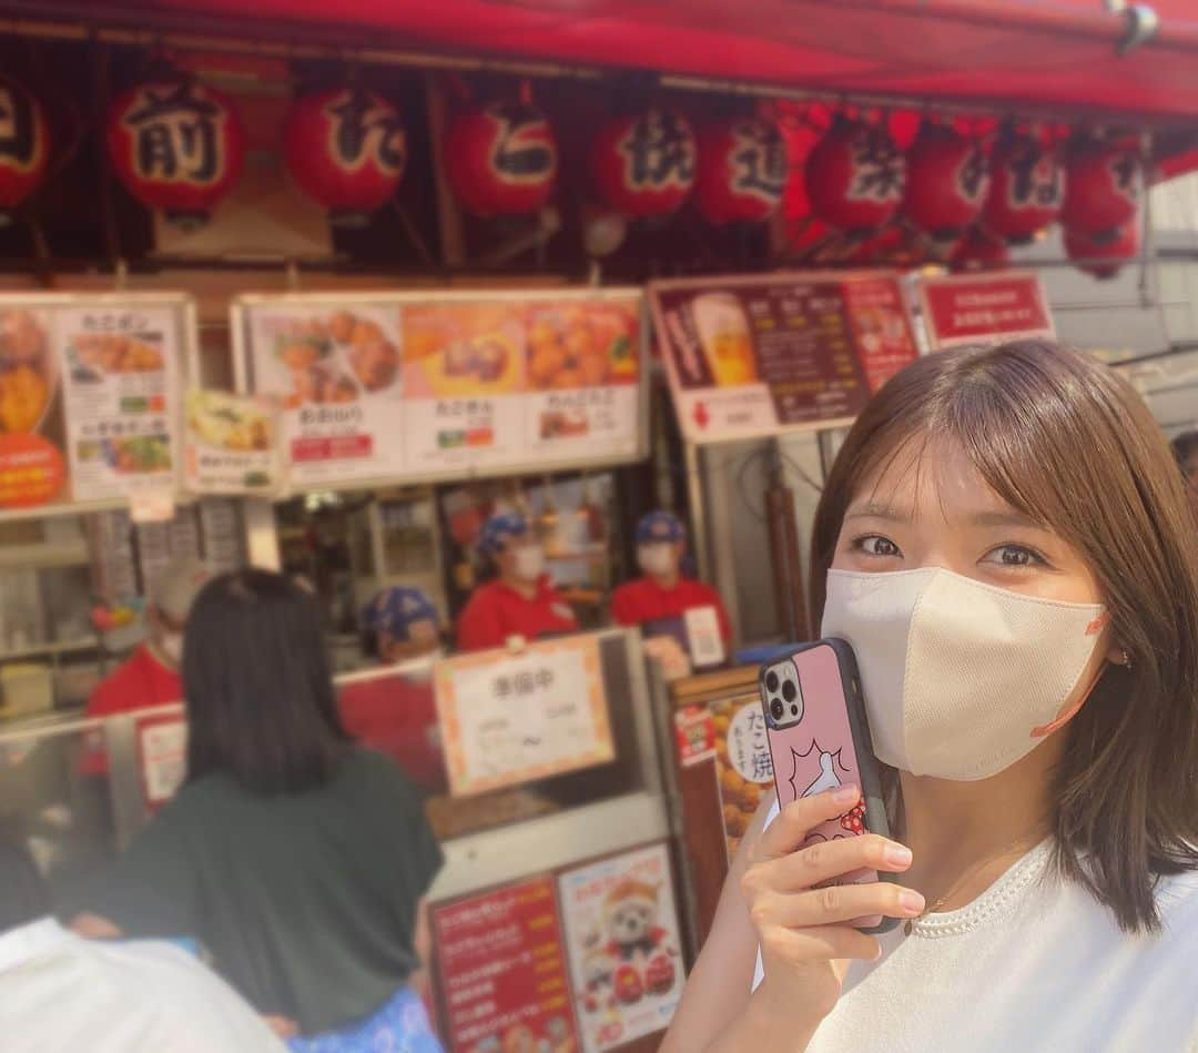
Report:
[[[668,1027],[682,995],[682,942],[665,845],[558,878],[575,1012],[587,1053]]]

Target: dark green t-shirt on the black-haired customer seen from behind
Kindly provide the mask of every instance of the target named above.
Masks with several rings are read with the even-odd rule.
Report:
[[[198,938],[262,1013],[304,1034],[370,1016],[417,967],[416,906],[442,855],[411,783],[355,750],[325,786],[184,786],[91,891],[129,937]]]

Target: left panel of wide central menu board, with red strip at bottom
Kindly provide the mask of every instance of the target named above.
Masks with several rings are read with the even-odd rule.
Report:
[[[283,449],[298,485],[404,470],[399,308],[280,299],[248,308],[255,394],[283,406]]]

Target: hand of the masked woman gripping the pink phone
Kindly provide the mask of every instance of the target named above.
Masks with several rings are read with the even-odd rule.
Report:
[[[877,939],[851,921],[871,915],[914,918],[924,897],[890,882],[829,885],[858,870],[901,873],[910,852],[875,834],[801,847],[821,823],[860,799],[842,786],[787,805],[754,846],[740,894],[761,945],[766,981],[758,991],[792,1018],[823,1019],[840,998],[848,960],[876,960]]]

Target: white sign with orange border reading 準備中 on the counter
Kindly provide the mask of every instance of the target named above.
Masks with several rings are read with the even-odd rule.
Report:
[[[593,637],[438,662],[437,716],[449,787],[484,793],[615,760]]]

